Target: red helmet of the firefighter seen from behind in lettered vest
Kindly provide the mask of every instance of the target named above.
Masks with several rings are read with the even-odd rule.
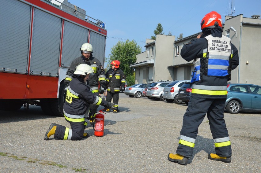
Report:
[[[201,30],[205,28],[220,28],[222,29],[222,18],[221,15],[215,11],[207,13],[201,20]]]

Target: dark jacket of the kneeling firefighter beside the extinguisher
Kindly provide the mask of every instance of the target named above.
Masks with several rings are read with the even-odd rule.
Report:
[[[106,103],[104,99],[92,93],[83,79],[73,78],[68,86],[63,105],[64,117],[71,124],[84,124],[85,117],[89,114],[90,104],[105,106]]]

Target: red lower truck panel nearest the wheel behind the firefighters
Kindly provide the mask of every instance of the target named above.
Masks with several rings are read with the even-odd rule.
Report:
[[[29,88],[26,98],[56,98],[58,78],[48,76],[28,75]]]

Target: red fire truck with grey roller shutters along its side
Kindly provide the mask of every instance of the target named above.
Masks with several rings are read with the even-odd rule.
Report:
[[[67,0],[0,0],[0,110],[63,116],[64,79],[83,43],[104,64],[105,24]]]

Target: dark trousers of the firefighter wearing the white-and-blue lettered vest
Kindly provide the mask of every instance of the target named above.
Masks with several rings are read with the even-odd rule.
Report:
[[[207,114],[216,154],[222,157],[232,155],[229,134],[224,120],[225,101],[225,98],[210,99],[193,96],[190,98],[187,111],[183,116],[177,154],[189,158],[192,156],[198,127]]]

